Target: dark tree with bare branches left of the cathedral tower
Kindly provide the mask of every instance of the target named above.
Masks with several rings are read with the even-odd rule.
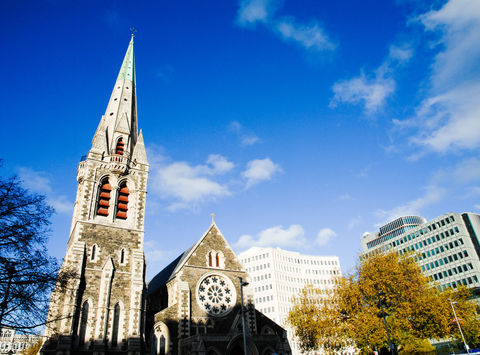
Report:
[[[53,209],[17,177],[0,177],[0,327],[33,329],[44,324],[49,296],[61,273],[46,250]]]

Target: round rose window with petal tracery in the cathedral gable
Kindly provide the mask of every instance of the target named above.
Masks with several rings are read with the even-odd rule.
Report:
[[[236,301],[235,286],[229,278],[209,275],[197,286],[197,302],[211,315],[229,312]]]

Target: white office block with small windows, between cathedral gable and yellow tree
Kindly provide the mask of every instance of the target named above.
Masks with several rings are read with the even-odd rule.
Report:
[[[292,298],[305,285],[313,285],[324,296],[331,290],[335,278],[341,275],[337,256],[304,255],[279,248],[252,247],[238,255],[250,275],[255,307],[270,319],[284,326],[292,354],[301,354],[285,321],[292,307]]]

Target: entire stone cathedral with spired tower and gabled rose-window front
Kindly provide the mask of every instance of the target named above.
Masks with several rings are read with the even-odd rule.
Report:
[[[285,330],[255,309],[249,276],[213,219],[146,284],[148,171],[132,35],[91,149],[78,166],[62,264],[75,277],[52,293],[41,353],[289,355]]]

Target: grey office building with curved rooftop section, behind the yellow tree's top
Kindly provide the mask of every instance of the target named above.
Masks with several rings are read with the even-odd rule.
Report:
[[[465,285],[480,296],[480,215],[447,213],[431,221],[400,217],[365,233],[360,258],[387,250],[413,252],[422,271],[439,287]]]

